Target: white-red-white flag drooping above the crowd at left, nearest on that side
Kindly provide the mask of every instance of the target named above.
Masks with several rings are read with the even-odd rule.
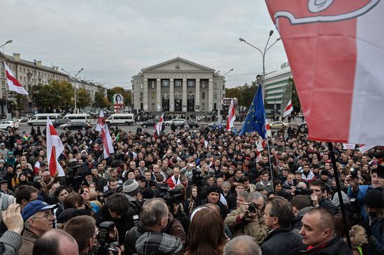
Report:
[[[59,156],[64,151],[63,143],[57,134],[50,118],[47,117],[47,160],[51,176],[65,176],[63,168],[59,164]]]

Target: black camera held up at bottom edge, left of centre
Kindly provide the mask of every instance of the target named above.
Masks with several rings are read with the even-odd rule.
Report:
[[[98,234],[96,239],[98,240],[99,245],[94,247],[95,255],[106,255],[109,252],[112,254],[119,254],[119,250],[116,247],[119,247],[119,242],[114,242],[110,239],[110,231],[115,229],[115,222],[101,222],[98,226]]]

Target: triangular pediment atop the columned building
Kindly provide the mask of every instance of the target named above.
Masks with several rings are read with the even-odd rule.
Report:
[[[177,57],[163,63],[143,68],[142,72],[214,72],[213,68]]]

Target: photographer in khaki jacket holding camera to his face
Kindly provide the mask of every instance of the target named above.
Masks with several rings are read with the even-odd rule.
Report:
[[[230,212],[224,223],[230,227],[234,236],[251,235],[261,244],[269,232],[263,210],[263,196],[259,192],[253,192],[243,206]]]

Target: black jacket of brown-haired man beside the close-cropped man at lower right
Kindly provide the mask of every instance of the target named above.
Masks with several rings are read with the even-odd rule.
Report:
[[[299,255],[302,249],[305,249],[305,245],[302,244],[302,237],[286,228],[269,232],[263,245],[261,245],[263,255]]]

